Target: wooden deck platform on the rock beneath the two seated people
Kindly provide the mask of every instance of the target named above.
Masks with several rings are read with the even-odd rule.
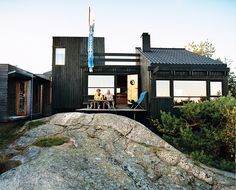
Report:
[[[91,109],[91,108],[82,108],[82,109],[76,109],[77,112],[83,112],[83,113],[114,113],[117,115],[132,115],[132,119],[137,119],[137,114],[140,114],[140,116],[146,116],[147,110],[145,109],[130,109],[130,108],[115,108],[115,109]]]

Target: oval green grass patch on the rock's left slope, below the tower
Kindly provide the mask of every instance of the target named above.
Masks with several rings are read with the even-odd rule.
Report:
[[[69,140],[70,139],[68,137],[44,137],[34,142],[33,145],[39,147],[51,147],[62,145],[64,143],[69,142]]]

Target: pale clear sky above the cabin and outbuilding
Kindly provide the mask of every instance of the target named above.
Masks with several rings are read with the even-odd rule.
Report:
[[[0,63],[51,70],[52,36],[88,36],[89,4],[106,52],[134,52],[143,32],[152,47],[208,39],[236,69],[236,0],[0,0]]]

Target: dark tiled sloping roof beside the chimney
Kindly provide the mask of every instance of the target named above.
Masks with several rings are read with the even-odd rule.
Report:
[[[137,49],[151,64],[222,64],[184,48],[151,48],[148,52],[143,52],[141,48]]]

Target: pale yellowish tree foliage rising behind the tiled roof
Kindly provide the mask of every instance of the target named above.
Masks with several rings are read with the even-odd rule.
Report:
[[[215,53],[215,48],[213,47],[212,43],[208,42],[208,40],[201,41],[199,44],[196,44],[195,42],[188,43],[186,49],[195,54],[209,58],[211,58]]]

